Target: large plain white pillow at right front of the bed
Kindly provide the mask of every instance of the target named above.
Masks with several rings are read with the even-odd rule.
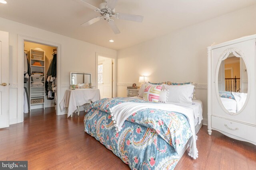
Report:
[[[192,103],[194,86],[193,85],[166,85],[164,84],[164,89],[168,91],[167,101],[168,102],[178,102],[178,103]]]

